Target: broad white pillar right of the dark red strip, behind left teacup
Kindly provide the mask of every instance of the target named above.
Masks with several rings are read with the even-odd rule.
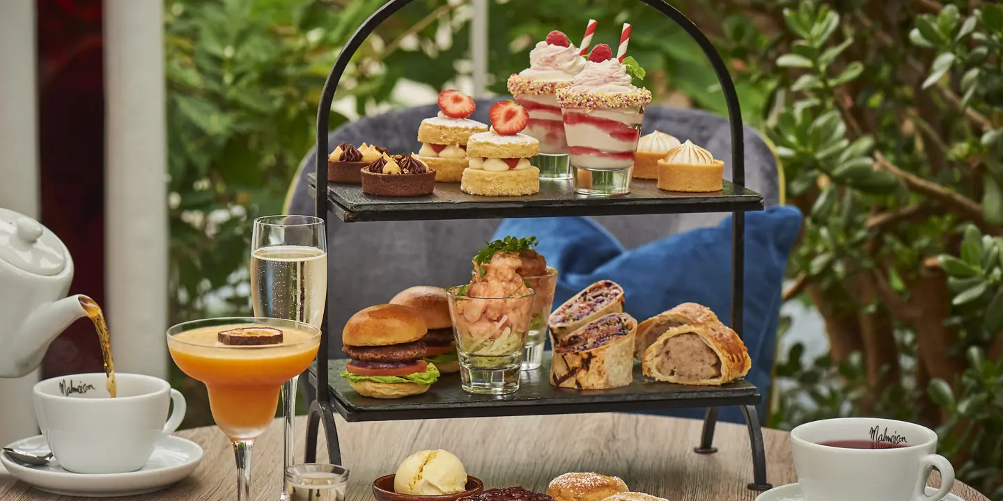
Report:
[[[160,0],[104,1],[105,302],[115,369],[168,377]]]

